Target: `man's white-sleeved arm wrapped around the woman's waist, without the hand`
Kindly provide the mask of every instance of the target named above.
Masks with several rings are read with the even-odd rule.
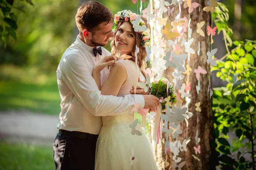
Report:
[[[135,102],[139,104],[139,108],[144,108],[145,101],[142,95],[102,95],[83,57],[75,54],[67,56],[62,65],[62,74],[73,94],[95,116],[131,113]]]

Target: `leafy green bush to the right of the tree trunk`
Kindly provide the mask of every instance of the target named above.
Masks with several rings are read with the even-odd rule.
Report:
[[[256,41],[255,41],[256,42]],[[221,169],[250,169],[252,161],[245,161],[240,150],[249,150],[252,155],[256,132],[256,45],[252,42],[235,41],[236,48],[225,62],[217,60],[217,77],[227,81],[224,88],[215,88],[212,111],[215,116],[215,138]],[[233,129],[237,139],[231,145],[226,139]],[[235,152],[238,153],[235,154]],[[252,153],[253,152],[253,153]],[[255,164],[254,164],[255,166]]]

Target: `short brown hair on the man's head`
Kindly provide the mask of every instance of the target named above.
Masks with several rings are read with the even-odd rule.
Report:
[[[99,24],[113,22],[113,13],[98,1],[83,3],[76,13],[76,26],[80,32],[86,28],[90,32],[97,31]]]

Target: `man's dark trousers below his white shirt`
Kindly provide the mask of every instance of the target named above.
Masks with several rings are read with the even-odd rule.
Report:
[[[53,142],[55,170],[94,170],[96,142],[57,133]]]

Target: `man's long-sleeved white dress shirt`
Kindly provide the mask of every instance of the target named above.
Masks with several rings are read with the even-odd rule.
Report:
[[[99,91],[92,77],[93,66],[109,55],[111,53],[102,48],[102,55],[94,57],[93,47],[86,45],[78,36],[64,52],[57,69],[61,96],[58,129],[99,134],[101,116],[131,113],[135,102],[139,108],[144,108],[142,95],[105,96]],[[101,71],[101,82],[105,82],[108,74],[106,67]]]

